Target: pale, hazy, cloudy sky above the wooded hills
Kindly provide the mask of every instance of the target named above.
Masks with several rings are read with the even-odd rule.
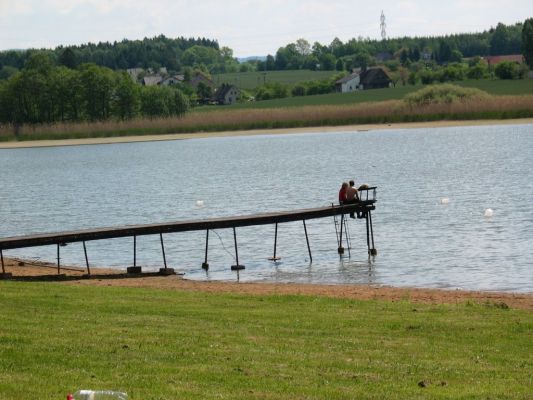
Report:
[[[206,37],[236,57],[275,54],[299,38],[481,32],[533,17],[532,0],[0,0],[0,50]]]

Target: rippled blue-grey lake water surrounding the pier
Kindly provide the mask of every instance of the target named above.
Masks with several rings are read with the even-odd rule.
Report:
[[[169,266],[189,279],[373,283],[533,291],[533,125],[384,130],[0,150],[0,236],[166,222],[330,205],[341,181],[378,186],[369,260],[350,221],[339,258],[331,219],[164,237]],[[441,199],[449,198],[448,204]],[[202,200],[204,207],[197,207]],[[494,210],[492,218],[484,210]],[[133,263],[132,239],[88,242],[91,265]],[[137,239],[137,263],[162,266],[159,238]],[[53,261],[55,247],[9,256]],[[63,264],[83,265],[79,243]]]

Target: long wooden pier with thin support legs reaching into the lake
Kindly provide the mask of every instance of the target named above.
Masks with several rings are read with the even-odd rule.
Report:
[[[214,229],[233,229],[234,243],[235,243],[235,259],[236,264],[232,266],[232,269],[243,269],[244,266],[239,264],[238,247],[237,247],[237,234],[236,228],[255,225],[267,225],[275,224],[275,237],[274,237],[274,256],[271,260],[276,261],[279,259],[276,257],[276,245],[277,245],[277,231],[278,224],[287,222],[302,221],[304,226],[305,237],[307,241],[307,248],[309,252],[310,261],[312,262],[311,247],[309,245],[309,238],[307,235],[307,226],[305,221],[317,218],[333,217],[335,219],[335,226],[337,232],[338,252],[342,254],[343,248],[343,228],[346,227],[346,214],[357,213],[361,215],[362,219],[366,222],[367,232],[367,247],[368,254],[376,255],[376,249],[374,248],[374,235],[372,227],[372,211],[375,210],[376,203],[376,188],[371,187],[365,189],[361,193],[362,199],[355,204],[346,205],[332,205],[331,207],[320,208],[308,208],[293,211],[282,211],[274,213],[242,215],[234,217],[224,218],[211,218],[204,220],[188,220],[188,221],[175,221],[158,224],[146,224],[146,225],[127,225],[120,227],[109,227],[99,229],[86,229],[79,231],[67,231],[57,233],[45,233],[26,236],[14,236],[0,238],[0,257],[2,262],[2,275],[7,275],[4,268],[3,251],[11,249],[20,249],[26,247],[36,246],[57,246],[57,268],[58,273],[61,271],[60,265],[60,248],[68,243],[82,242],[85,255],[85,262],[87,267],[87,273],[90,275],[89,260],[87,256],[87,249],[85,242],[93,240],[104,240],[113,238],[132,237],[133,238],[133,268],[129,272],[140,272],[140,267],[137,267],[136,257],[136,238],[137,236],[146,235],[159,235],[161,241],[161,251],[163,255],[164,268],[161,269],[162,273],[171,272],[167,268],[165,247],[163,242],[164,233],[176,233],[176,232],[189,232],[189,231],[206,231],[206,247],[205,247],[205,261],[202,264],[204,269],[209,267],[207,262],[208,246],[209,246],[209,231]],[[337,217],[340,216],[340,225],[337,223]],[[337,229],[337,227],[340,229]],[[340,232],[339,232],[340,230]],[[345,229],[344,229],[345,230]],[[347,239],[346,232],[344,232],[345,239]],[[131,267],[130,267],[131,268]]]

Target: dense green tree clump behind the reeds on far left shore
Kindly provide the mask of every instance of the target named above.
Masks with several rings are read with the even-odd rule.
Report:
[[[177,88],[140,86],[126,72],[95,64],[56,66],[47,53],[32,54],[0,81],[0,123],[14,126],[179,116],[188,107]]]

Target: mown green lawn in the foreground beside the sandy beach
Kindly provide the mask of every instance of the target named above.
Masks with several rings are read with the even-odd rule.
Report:
[[[533,314],[0,282],[0,398],[526,399]],[[419,386],[425,382],[426,387]]]

